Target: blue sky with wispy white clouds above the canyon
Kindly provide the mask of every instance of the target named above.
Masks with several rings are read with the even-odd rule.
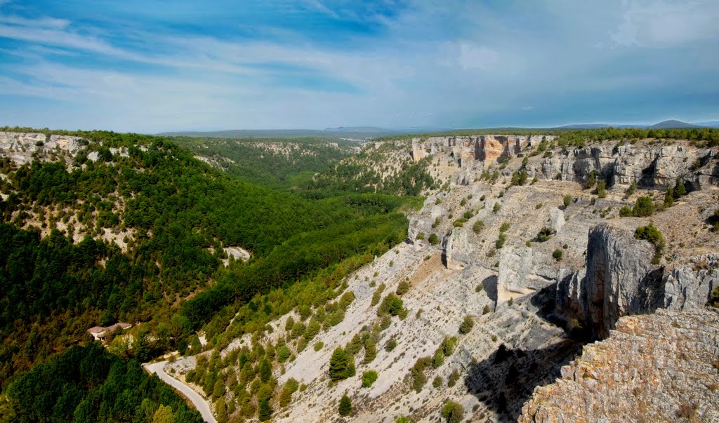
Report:
[[[0,126],[719,119],[719,1],[0,0]]]

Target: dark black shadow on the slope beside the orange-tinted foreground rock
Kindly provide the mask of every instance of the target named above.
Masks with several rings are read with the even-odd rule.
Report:
[[[516,421],[534,387],[551,384],[582,345],[572,339],[539,350],[513,350],[502,344],[486,360],[470,365],[464,385],[498,414],[500,422]]]

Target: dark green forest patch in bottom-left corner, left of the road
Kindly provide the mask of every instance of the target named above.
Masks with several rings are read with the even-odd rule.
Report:
[[[17,378],[7,389],[3,421],[202,422],[175,391],[135,360],[98,343],[73,346]],[[4,413],[3,413],[4,412]]]

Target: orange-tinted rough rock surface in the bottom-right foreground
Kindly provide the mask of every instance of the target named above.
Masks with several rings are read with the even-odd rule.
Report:
[[[519,422],[718,422],[719,312],[622,317],[562,378],[534,390]]]

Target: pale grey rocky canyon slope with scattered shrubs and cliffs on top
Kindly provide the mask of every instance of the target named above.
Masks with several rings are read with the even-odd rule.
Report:
[[[541,137],[477,136],[385,142],[367,149],[373,153],[365,159],[376,159],[386,175],[403,161],[425,160],[439,183],[426,190],[423,208],[411,215],[408,241],[347,277],[346,292],[354,294],[354,302],[344,320],[316,335],[316,348],[301,349],[297,341],[288,341],[293,359],[277,363],[273,375],[278,386],[294,378],[302,387],[289,406],[273,402],[273,422],[336,421],[344,394],[354,407],[345,420],[353,422],[393,422],[400,416],[436,421],[448,399],[461,404],[470,421],[510,421],[520,416],[536,386],[561,375],[560,368],[583,343],[605,338],[615,328],[621,332],[622,322],[634,321],[619,320],[622,316],[662,307],[684,310],[690,319],[713,313],[696,310],[719,284],[718,236],[707,225],[719,206],[715,148],[644,140],[563,151]],[[526,182],[513,185],[518,172],[526,172]],[[608,182],[605,197],[580,185],[591,175]],[[619,217],[620,208],[639,196],[663,198],[664,188],[677,178],[690,193],[671,208],[651,217]],[[638,188],[627,193],[632,183]],[[650,222],[666,242],[656,264],[654,246],[633,236]],[[401,294],[405,317],[387,322],[377,315],[381,299],[403,282],[409,286]],[[297,312],[292,316],[300,318]],[[474,327],[460,333],[467,316]],[[684,318],[656,318],[667,316],[677,322]],[[221,355],[253,343],[275,348],[292,339],[285,330],[287,318],[272,322],[273,330],[261,338],[235,340]],[[716,319],[707,325],[719,327]],[[359,348],[356,376],[330,382],[333,350],[363,333],[372,337],[376,356],[367,358]],[[452,337],[457,339],[449,355],[416,370],[419,359],[434,361],[444,340]],[[390,340],[396,348],[385,348]],[[697,340],[697,350],[715,348],[709,341]],[[651,360],[651,350],[636,351],[638,360]],[[183,378],[195,363],[191,357],[171,366]],[[613,363],[616,371],[631,368],[630,361]],[[240,370],[230,362],[223,371]],[[378,373],[369,388],[362,387],[365,371]],[[423,384],[417,383],[418,373]],[[234,401],[232,392],[226,401]],[[656,410],[646,415],[675,416],[674,409]],[[587,421],[598,415],[588,415]],[[630,414],[622,416],[631,420]],[[239,419],[237,414],[232,418]]]

